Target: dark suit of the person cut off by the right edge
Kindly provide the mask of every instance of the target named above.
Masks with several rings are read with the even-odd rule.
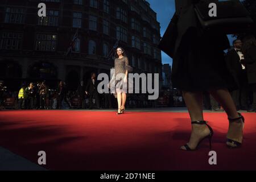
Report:
[[[245,63],[248,83],[253,91],[253,109],[256,110],[256,46],[251,46],[244,56],[242,63]]]

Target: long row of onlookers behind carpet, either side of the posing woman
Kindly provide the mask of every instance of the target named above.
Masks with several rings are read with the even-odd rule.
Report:
[[[94,80],[94,83],[93,83]],[[113,94],[97,92],[95,73],[84,85],[84,81],[76,90],[68,90],[67,84],[60,81],[56,88],[49,88],[47,81],[23,84],[17,91],[9,91],[1,82],[1,105],[13,98],[13,104],[6,106],[18,109],[113,109],[116,106]],[[147,94],[129,94],[127,107],[155,107],[156,101],[147,100]],[[1,109],[1,108],[0,108]]]

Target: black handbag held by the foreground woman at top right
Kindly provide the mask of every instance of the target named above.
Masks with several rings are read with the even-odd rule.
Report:
[[[209,16],[209,3],[216,3],[217,16]],[[239,0],[200,1],[195,4],[195,12],[203,31],[236,34],[250,30],[254,23]]]

